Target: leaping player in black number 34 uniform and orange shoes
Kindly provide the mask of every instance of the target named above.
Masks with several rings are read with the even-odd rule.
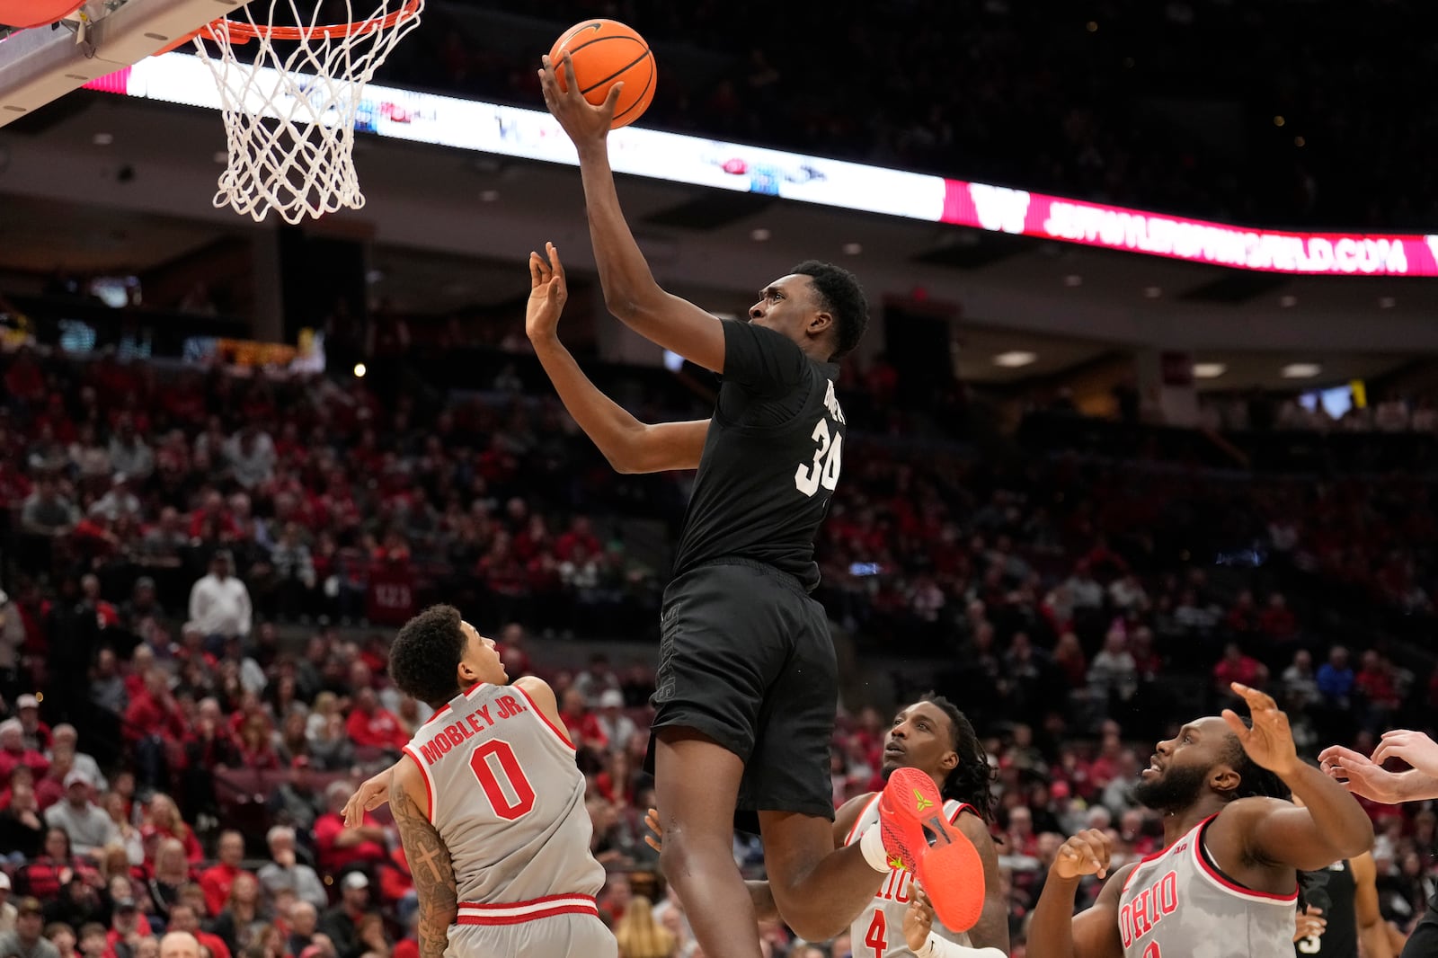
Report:
[[[880,823],[834,849],[838,676],[828,617],[808,593],[818,583],[814,537],[843,467],[834,360],[864,334],[863,291],[847,270],[805,262],[764,288],[749,322],[722,322],[664,292],[624,222],[608,164],[618,88],[594,106],[572,82],[559,91],[548,59],[539,79],[580,154],[605,305],[723,380],[712,419],[638,423],[559,345],[559,263],[552,246],[548,260],[531,256],[529,337],[580,426],[621,472],[699,469],[664,593],[646,762],[664,814],[660,863],[695,936],[709,958],[761,954],[733,860],[735,824],[758,826],[778,911],[811,941],[844,929],[890,875],[890,859],[925,882],[946,925],[968,929],[984,905],[982,865],[939,814],[942,798],[922,772],[896,774]]]

